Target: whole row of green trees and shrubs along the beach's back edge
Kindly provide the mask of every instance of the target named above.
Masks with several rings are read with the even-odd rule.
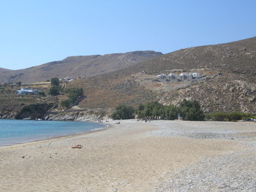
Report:
[[[187,101],[184,99],[179,105],[165,106],[157,101],[140,104],[134,108],[124,104],[118,105],[111,118],[114,120],[135,118],[151,120],[217,120],[217,121],[236,121],[253,120],[256,115],[246,112],[208,112],[206,114],[201,110],[198,101]]]

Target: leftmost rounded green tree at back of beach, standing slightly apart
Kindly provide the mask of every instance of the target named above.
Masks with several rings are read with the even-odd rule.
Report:
[[[111,118],[114,120],[117,119],[132,119],[135,118],[134,116],[134,108],[131,106],[127,106],[124,104],[119,104],[116,107],[116,111],[112,113]]]

